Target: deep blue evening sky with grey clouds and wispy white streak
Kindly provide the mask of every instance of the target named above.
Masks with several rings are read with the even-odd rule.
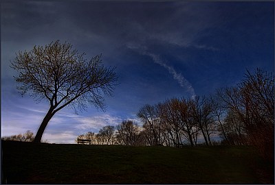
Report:
[[[274,2],[1,3],[1,134],[36,133],[47,102],[21,97],[10,60],[54,40],[116,66],[120,85],[107,111],[65,108],[45,130],[50,143],[74,143],[170,97],[208,95],[233,86],[245,70],[274,71]]]

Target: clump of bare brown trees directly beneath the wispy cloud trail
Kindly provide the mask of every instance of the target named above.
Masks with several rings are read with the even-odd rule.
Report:
[[[210,136],[217,129],[210,103],[207,97],[172,98],[142,107],[137,116],[143,122],[148,145],[179,147],[188,141],[194,146],[200,134],[206,145],[212,145]]]

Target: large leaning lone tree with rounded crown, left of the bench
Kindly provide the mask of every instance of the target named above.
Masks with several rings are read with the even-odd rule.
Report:
[[[86,60],[72,45],[59,40],[45,47],[34,46],[31,51],[19,51],[12,68],[19,72],[21,95],[30,92],[34,100],[46,99],[50,108],[45,115],[34,142],[40,143],[52,116],[65,106],[85,110],[87,103],[104,110],[104,95],[111,95],[117,85],[114,67],[106,68],[101,55]]]

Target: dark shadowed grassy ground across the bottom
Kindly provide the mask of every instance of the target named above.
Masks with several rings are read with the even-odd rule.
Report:
[[[250,147],[129,147],[2,141],[2,184],[273,184]]]

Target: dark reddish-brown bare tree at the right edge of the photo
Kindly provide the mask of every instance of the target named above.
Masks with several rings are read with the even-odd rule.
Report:
[[[247,71],[241,83],[222,91],[221,98],[243,122],[250,145],[274,160],[274,75]]]

